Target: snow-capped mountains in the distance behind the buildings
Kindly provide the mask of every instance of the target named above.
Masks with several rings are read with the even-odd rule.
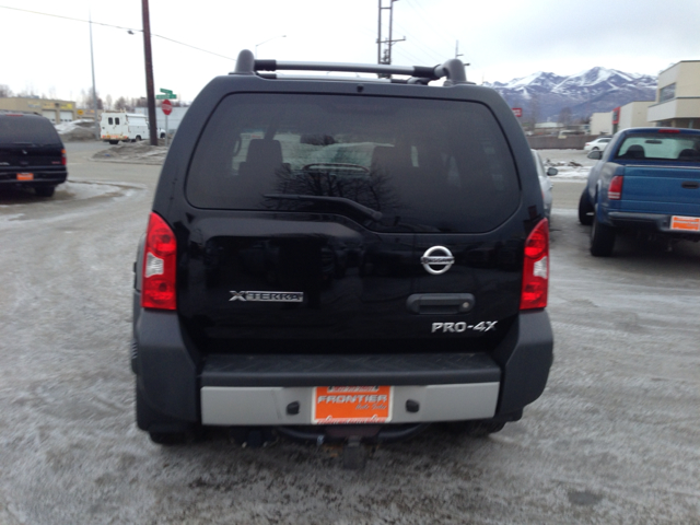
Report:
[[[656,95],[654,77],[606,68],[593,68],[571,77],[538,71],[506,83],[483,85],[498,91],[511,107],[522,107],[524,118],[537,114],[537,121],[557,120],[565,107],[571,109],[573,118],[588,117],[630,102],[653,101]]]

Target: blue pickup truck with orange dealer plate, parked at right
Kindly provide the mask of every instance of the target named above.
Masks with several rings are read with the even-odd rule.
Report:
[[[591,254],[612,254],[619,231],[648,237],[700,241],[700,130],[631,128],[604,151],[579,202],[592,224]]]

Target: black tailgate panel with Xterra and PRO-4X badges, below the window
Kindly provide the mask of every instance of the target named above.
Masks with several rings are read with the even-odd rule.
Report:
[[[517,313],[522,242],[479,237],[378,234],[342,218],[197,220],[178,310],[206,352],[487,350]],[[435,275],[431,255],[454,262],[432,262]]]

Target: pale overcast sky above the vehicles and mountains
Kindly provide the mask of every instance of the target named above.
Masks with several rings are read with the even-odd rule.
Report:
[[[100,96],[145,95],[140,0],[0,5],[0,84],[65,100],[89,92],[90,30],[81,21],[91,13]],[[151,32],[164,37],[152,38],[155,91],[191,101],[256,45],[259,58],[376,63],[377,11],[378,0],[150,0]],[[458,40],[477,83],[595,66],[656,75],[679,60],[700,60],[699,21],[700,0],[398,0],[393,36],[406,40],[394,44],[393,63],[438,65],[455,56]],[[387,28],[388,21],[383,37]]]

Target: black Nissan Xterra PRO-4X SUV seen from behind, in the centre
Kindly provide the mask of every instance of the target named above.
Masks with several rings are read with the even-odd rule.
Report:
[[[244,50],[187,112],[138,250],[138,425],[158,443],[500,430],[552,362],[548,255],[521,127],[462,62]]]

